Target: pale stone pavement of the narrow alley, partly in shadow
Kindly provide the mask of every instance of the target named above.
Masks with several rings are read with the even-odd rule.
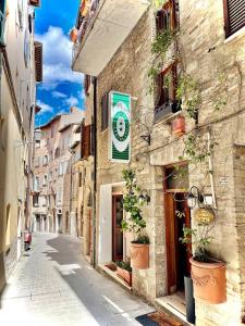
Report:
[[[93,269],[79,240],[35,234],[1,297],[0,325],[139,325],[137,315],[154,311]]]

